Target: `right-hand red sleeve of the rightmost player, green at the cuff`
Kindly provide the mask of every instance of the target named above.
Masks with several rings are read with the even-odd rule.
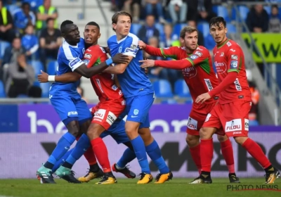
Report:
[[[228,66],[228,72],[239,72],[242,65],[242,51],[240,47],[233,45],[228,50],[226,61]]]

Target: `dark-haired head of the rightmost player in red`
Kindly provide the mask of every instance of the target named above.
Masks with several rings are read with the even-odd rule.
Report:
[[[210,34],[217,44],[225,41],[228,29],[226,28],[226,20],[224,20],[223,17],[218,16],[211,18],[209,28]]]

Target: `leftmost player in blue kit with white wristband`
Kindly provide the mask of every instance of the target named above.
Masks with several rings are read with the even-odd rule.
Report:
[[[70,20],[65,20],[60,25],[60,31],[65,41],[62,46],[60,46],[58,52],[57,75],[63,75],[66,72],[78,72],[80,75],[89,78],[102,72],[112,63],[129,62],[129,58],[126,55],[117,54],[99,65],[87,68],[85,63],[81,61],[81,58],[84,56],[85,46],[84,39],[80,38],[77,25]],[[52,77],[52,79],[50,78],[48,81],[55,81],[55,76],[49,77]],[[69,150],[76,137],[81,135],[80,131],[87,131],[91,124],[92,115],[86,102],[81,99],[81,96],[77,92],[77,82],[53,83],[50,88],[49,98],[52,106],[55,108],[68,130],[58,141],[57,146],[53,153],[51,153],[47,162],[37,170],[37,175],[41,177],[43,182],[53,184],[55,183],[51,175],[53,165]],[[87,140],[89,140],[88,136],[82,134],[76,146],[84,146],[84,141]],[[76,150],[81,151],[84,149],[77,148]],[[81,153],[75,153],[73,151],[72,155],[75,154],[80,155]],[[81,183],[75,179],[71,169],[69,169],[69,172],[57,175],[68,182]]]

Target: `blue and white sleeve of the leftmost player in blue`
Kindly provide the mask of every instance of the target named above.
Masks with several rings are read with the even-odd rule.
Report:
[[[65,57],[62,58],[63,63],[67,64],[72,71],[74,71],[84,63],[79,58],[79,54],[76,51],[72,50],[71,48],[65,49],[64,52],[65,52]]]

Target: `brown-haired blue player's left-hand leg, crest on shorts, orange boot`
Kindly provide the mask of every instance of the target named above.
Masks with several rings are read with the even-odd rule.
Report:
[[[136,153],[138,163],[141,166],[141,179],[138,181],[138,184],[148,184],[153,179],[145,151],[145,144],[141,136],[138,134],[138,128],[141,125],[140,122],[145,120],[153,100],[154,98],[151,98],[149,103],[147,101],[141,101],[140,96],[129,97],[126,99],[126,110],[129,111],[129,113],[125,123],[125,130],[133,145],[133,151]]]

